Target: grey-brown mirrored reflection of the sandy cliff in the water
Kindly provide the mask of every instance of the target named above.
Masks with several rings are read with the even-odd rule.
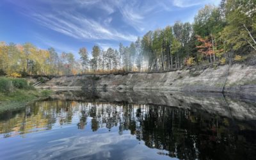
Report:
[[[221,93],[170,92],[57,92],[52,99],[91,102],[126,102],[130,104],[157,104],[205,111],[228,118],[256,120],[256,97],[222,95]]]

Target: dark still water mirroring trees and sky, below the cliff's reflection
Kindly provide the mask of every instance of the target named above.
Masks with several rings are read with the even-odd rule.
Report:
[[[1,111],[0,159],[255,159],[254,102],[227,99],[221,110],[220,99],[188,99],[51,99]]]

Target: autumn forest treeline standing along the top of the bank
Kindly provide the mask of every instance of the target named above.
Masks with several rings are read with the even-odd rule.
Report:
[[[256,52],[256,1],[222,0],[206,5],[194,22],[175,22],[164,29],[148,31],[129,46],[106,51],[95,45],[92,56],[85,47],[80,59],[54,48],[0,43],[0,75],[72,75],[84,73],[149,72],[193,65],[220,65],[242,61]],[[92,58],[89,58],[92,57]]]

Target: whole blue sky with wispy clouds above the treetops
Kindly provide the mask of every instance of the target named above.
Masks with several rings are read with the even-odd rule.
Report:
[[[147,31],[193,22],[205,4],[220,0],[1,0],[0,41],[31,42],[73,52],[129,45]]]

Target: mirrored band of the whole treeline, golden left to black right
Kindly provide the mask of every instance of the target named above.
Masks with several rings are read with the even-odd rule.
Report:
[[[5,111],[0,117],[0,132],[6,138],[69,124],[77,124],[77,129],[91,125],[92,131],[118,127],[119,134],[130,131],[148,147],[163,150],[159,154],[179,159],[256,157],[255,120],[234,120],[204,109],[50,100]]]

